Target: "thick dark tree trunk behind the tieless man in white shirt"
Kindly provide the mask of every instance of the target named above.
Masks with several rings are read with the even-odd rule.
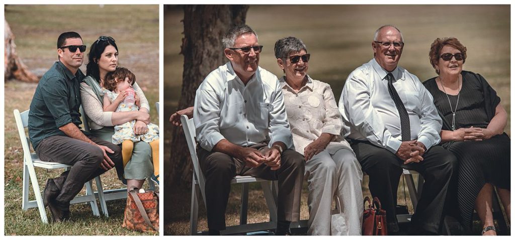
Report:
[[[195,91],[202,80],[227,61],[221,40],[229,28],[245,24],[248,8],[242,5],[184,6],[181,46],[184,71],[178,109],[193,106]],[[190,187],[193,173],[182,127],[172,127],[171,157],[164,162],[167,192]]]

